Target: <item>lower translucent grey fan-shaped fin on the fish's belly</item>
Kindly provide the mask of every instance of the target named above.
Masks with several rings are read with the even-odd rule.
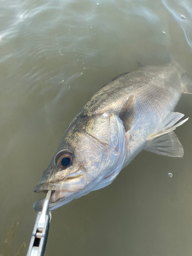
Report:
[[[169,132],[152,140],[148,140],[145,150],[169,157],[183,156],[183,147],[174,132]]]

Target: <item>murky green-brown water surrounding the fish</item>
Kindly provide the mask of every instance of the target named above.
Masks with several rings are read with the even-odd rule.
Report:
[[[26,254],[42,197],[33,189],[103,84],[169,54],[192,74],[191,10],[189,0],[1,0],[1,255]],[[191,255],[191,109],[182,95],[184,157],[143,151],[110,186],[52,211],[46,256]]]

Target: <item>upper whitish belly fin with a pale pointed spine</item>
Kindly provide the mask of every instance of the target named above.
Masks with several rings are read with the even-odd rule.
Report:
[[[183,114],[178,112],[166,111],[162,113],[156,129],[150,134],[147,140],[151,140],[155,137],[174,131],[176,127],[180,126],[188,120],[188,118],[186,118],[181,122],[177,123],[183,116]]]

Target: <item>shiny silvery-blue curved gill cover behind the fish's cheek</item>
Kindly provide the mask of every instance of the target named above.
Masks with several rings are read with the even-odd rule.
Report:
[[[99,115],[94,119],[92,127],[96,127],[96,129],[91,129],[89,135],[108,146],[109,161],[103,175],[99,177],[91,191],[112,183],[122,169],[126,155],[125,129],[123,122],[116,114],[105,112],[101,116]]]

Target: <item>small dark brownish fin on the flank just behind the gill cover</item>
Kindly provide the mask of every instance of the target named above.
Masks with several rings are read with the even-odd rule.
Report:
[[[130,127],[135,121],[135,94],[130,95],[127,101],[124,103],[119,118],[122,120],[125,132],[130,130]]]

